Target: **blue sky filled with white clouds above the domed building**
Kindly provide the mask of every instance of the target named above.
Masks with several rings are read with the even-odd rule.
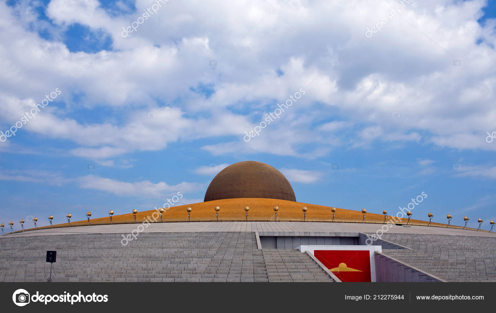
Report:
[[[414,218],[489,229],[496,4],[410,1],[1,1],[0,222],[197,203],[257,160],[299,202],[425,192]]]

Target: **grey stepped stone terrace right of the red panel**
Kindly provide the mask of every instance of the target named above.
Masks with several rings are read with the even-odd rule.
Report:
[[[496,281],[496,239],[491,237],[385,234],[413,250],[382,253],[447,281]]]

